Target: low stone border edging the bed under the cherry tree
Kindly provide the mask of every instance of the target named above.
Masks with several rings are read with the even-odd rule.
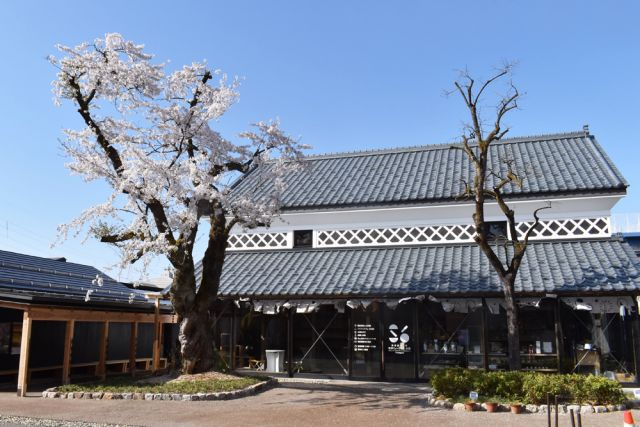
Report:
[[[229,400],[241,397],[253,396],[265,391],[277,384],[273,378],[250,385],[247,388],[233,391],[220,391],[217,393],[113,393],[113,392],[85,392],[76,391],[60,393],[56,387],[48,388],[42,392],[42,397],[47,399],[93,399],[93,400],[174,400],[174,401],[210,401]]]

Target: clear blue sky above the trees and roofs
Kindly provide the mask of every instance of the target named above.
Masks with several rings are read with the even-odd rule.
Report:
[[[107,190],[63,166],[61,130],[80,123],[70,104],[53,105],[45,57],[106,32],[176,67],[207,59],[243,77],[218,124],[228,137],[279,117],[314,152],[451,141],[465,118],[458,98],[442,96],[456,70],[486,76],[517,60],[526,96],[508,118],[513,135],[588,123],[631,183],[615,212],[639,212],[639,17],[632,1],[4,2],[0,249],[115,262],[114,249],[80,238],[49,249],[57,225]]]

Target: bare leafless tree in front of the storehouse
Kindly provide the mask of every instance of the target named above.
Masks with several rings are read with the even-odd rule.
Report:
[[[490,147],[499,143],[509,132],[509,127],[502,123],[503,118],[507,113],[518,108],[518,100],[521,97],[510,79],[512,69],[513,65],[507,64],[497,70],[492,77],[478,83],[467,71],[461,73],[460,79],[454,83],[455,89],[452,92],[462,96],[469,111],[470,122],[464,126],[462,144],[452,148],[462,150],[473,166],[472,180],[469,182],[463,179],[464,193],[460,197],[474,200],[475,241],[498,274],[502,284],[507,312],[509,369],[516,370],[520,369],[518,306],[514,297],[516,277],[522,265],[529,237],[540,221],[538,213],[549,206],[536,209],[533,213],[533,224],[522,238],[518,237],[515,212],[505,200],[504,189],[513,185],[522,188],[524,175],[516,171],[514,159],[500,159],[500,163],[504,165],[500,168],[501,170],[495,170],[491,166],[490,157],[495,155],[495,152],[492,153],[493,150]],[[487,90],[507,79],[508,89],[499,96],[494,120],[484,122],[480,110],[484,105]],[[497,203],[506,218],[507,233],[506,236],[500,236],[500,245],[495,244],[494,236],[485,222],[487,202]],[[504,253],[499,252],[499,247],[503,248]],[[501,257],[504,257],[504,260]]]

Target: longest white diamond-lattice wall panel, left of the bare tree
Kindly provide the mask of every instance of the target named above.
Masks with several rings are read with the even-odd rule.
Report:
[[[428,243],[472,242],[472,225],[432,225],[426,227],[361,228],[353,230],[319,230],[315,247],[385,246]]]

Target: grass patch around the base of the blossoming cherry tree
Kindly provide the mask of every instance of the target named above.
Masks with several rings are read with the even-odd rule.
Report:
[[[61,393],[73,392],[112,392],[112,393],[218,393],[241,390],[250,385],[265,381],[261,377],[208,378],[193,381],[152,382],[153,377],[131,378],[112,377],[105,381],[68,384],[56,388]]]

